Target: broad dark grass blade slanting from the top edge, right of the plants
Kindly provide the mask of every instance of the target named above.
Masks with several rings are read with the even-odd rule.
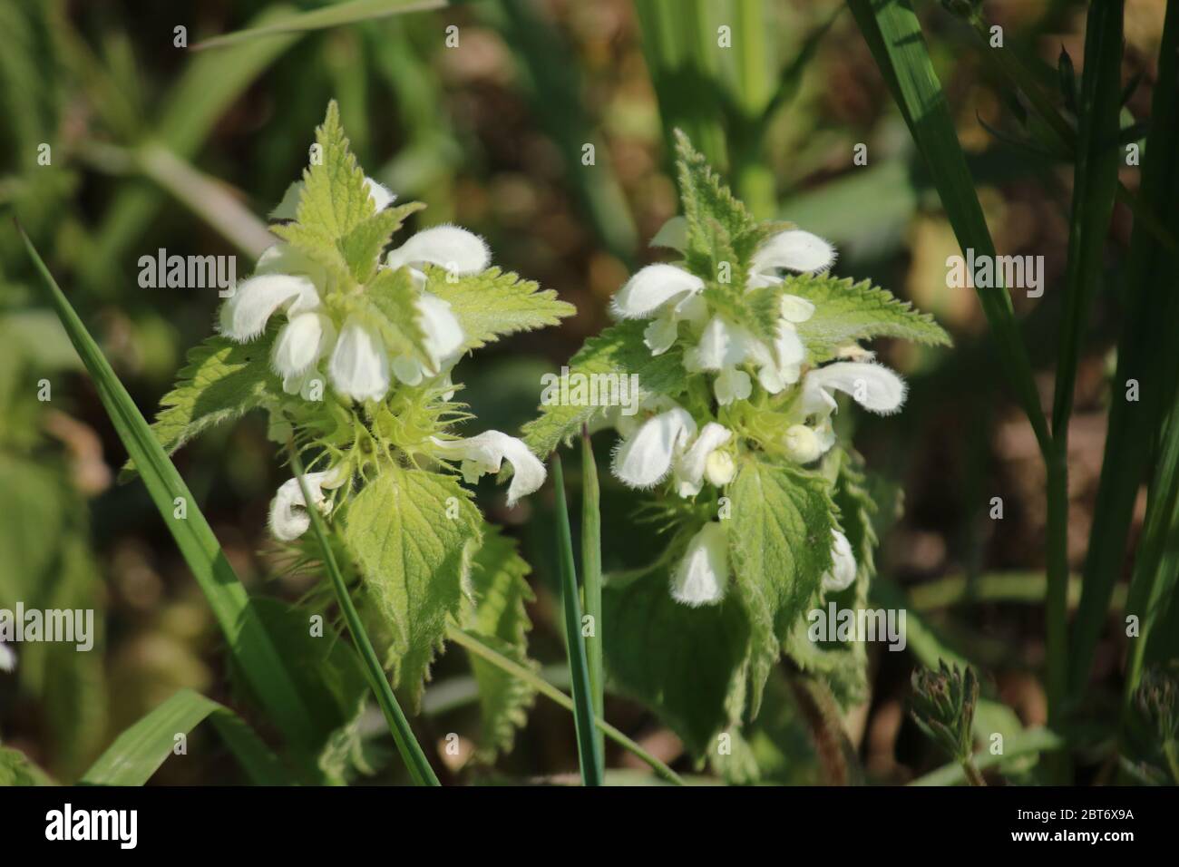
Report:
[[[907,0],[848,0],[848,6],[929,169],[959,245],[973,249],[975,256],[994,256],[995,244],[913,7]],[[1048,454],[1048,425],[1010,296],[1003,288],[976,291],[997,343],[999,363],[1032,422],[1040,451]]]

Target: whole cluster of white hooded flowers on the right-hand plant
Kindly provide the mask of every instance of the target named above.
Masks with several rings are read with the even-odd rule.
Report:
[[[684,252],[677,234],[665,230],[657,241]],[[650,322],[644,344],[653,356],[679,343],[685,372],[690,379],[704,377],[711,399],[681,406],[657,395],[646,399],[641,415],[606,413],[598,427],[614,427],[621,435],[614,475],[634,488],[670,479],[676,494],[694,498],[705,482],[719,488],[732,481],[738,459],[747,451],[797,465],[818,461],[836,442],[831,416],[838,408],[837,392],[874,413],[900,409],[904,381],[872,361],[871,353],[850,343],[841,350],[841,357],[849,360],[815,364],[799,335],[798,326],[815,315],[816,307],[790,293],[792,275],[825,274],[835,258],[831,244],[799,229],[771,234],[756,248],[744,291],[782,289],[772,341],[712,309],[705,280],[686,265],[653,264],[634,274],[614,296],[612,313]],[[686,396],[691,395],[689,389]],[[749,428],[747,407],[773,413],[772,435]],[[856,577],[851,546],[838,530],[832,531],[831,560],[822,579],[829,592],[848,587]],[[724,598],[729,573],[724,521],[709,521],[687,543],[672,576],[672,596],[686,605],[716,604]]]

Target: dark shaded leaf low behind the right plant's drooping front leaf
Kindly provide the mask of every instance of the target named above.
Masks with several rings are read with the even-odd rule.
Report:
[[[650,708],[694,755],[740,715],[749,620],[740,599],[689,607],[667,573],[602,589],[602,646],[614,689]]]

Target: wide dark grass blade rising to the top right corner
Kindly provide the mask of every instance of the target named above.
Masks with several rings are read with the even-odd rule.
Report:
[[[1167,4],[1158,80],[1179,80],[1177,2]],[[1179,201],[1175,153],[1179,153],[1179,88],[1155,87],[1139,196],[1146,209],[1165,215],[1171,235],[1179,234],[1179,209],[1174,206]],[[1146,444],[1155,439],[1174,390],[1173,363],[1168,374],[1167,360],[1174,355],[1170,329],[1177,315],[1175,274],[1179,274],[1179,256],[1135,219],[1126,278],[1126,314],[1118,341],[1118,370],[1093,513],[1093,526],[1100,527],[1100,532],[1091,537],[1081,602],[1073,623],[1069,688],[1075,696],[1086,689],[1109,600],[1121,576],[1134,501],[1152,458],[1152,449]],[[1164,275],[1171,276],[1165,278]],[[1129,380],[1139,383],[1138,401],[1126,400]],[[1158,491],[1158,481],[1154,490]],[[1134,644],[1140,641],[1135,639]]]

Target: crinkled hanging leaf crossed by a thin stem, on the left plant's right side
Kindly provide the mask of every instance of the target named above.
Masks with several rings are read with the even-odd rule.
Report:
[[[540,666],[528,658],[532,623],[525,605],[535,598],[525,580],[529,571],[528,564],[516,553],[515,540],[489,526],[475,554],[470,573],[473,599],[466,606],[463,629],[513,662],[539,670]],[[526,682],[485,658],[475,653],[469,656],[479,685],[483,730],[477,755],[489,762],[498,753],[512,749],[515,730],[525,724],[526,711],[536,694]]]

